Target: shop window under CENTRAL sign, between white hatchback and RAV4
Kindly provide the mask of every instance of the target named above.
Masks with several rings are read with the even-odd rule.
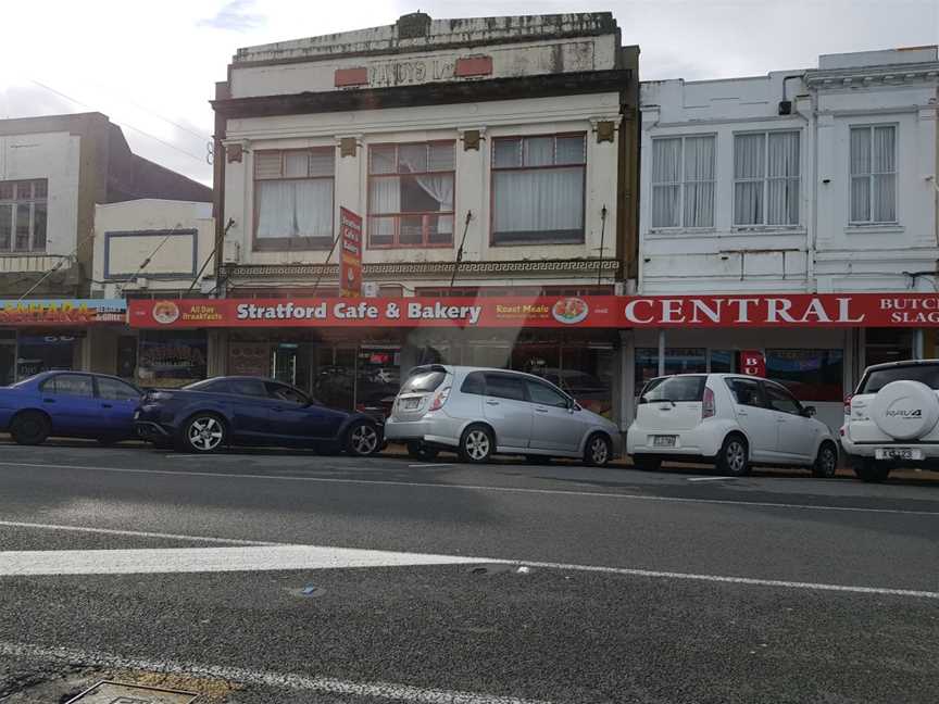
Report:
[[[766,377],[800,401],[841,401],[841,350],[766,350]]]

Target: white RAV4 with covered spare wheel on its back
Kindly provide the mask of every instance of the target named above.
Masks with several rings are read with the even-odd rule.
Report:
[[[841,445],[863,481],[899,466],[939,468],[939,360],[877,364],[844,400]]]

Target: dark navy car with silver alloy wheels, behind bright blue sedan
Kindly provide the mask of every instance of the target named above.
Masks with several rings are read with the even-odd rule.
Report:
[[[156,445],[196,453],[277,445],[367,456],[381,448],[381,426],[373,417],[327,408],[300,389],[258,377],[216,377],[150,391],[136,428]]]

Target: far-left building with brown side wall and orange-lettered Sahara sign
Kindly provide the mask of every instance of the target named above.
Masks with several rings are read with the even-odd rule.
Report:
[[[134,154],[100,113],[0,121],[0,384],[98,366],[96,336],[126,309],[89,299],[95,208],[139,198],[211,190]]]

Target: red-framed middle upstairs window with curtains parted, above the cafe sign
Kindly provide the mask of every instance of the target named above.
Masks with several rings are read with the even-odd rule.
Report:
[[[454,142],[368,149],[368,246],[453,244]]]

